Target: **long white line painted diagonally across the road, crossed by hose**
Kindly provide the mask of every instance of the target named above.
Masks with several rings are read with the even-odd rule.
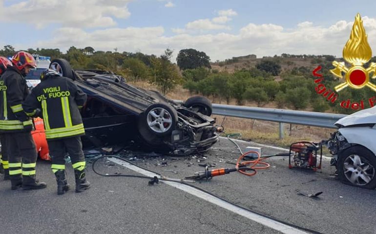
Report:
[[[117,163],[121,166],[124,166],[130,170],[133,170],[135,172],[138,172],[144,176],[150,176],[150,177],[154,177],[154,176],[157,176],[158,178],[160,178],[159,175],[155,174],[155,173],[152,173],[152,172],[149,172],[149,171],[146,171],[140,167],[137,167],[135,165],[132,165],[130,163],[127,163],[125,161],[122,161],[118,158],[108,158],[108,160],[114,162],[114,163]],[[188,185],[185,185],[185,184],[181,184],[181,183],[176,183],[176,182],[170,182],[170,181],[163,181],[161,180],[161,182],[163,183],[166,183],[174,188],[177,188],[177,189],[180,189],[184,192],[187,192],[188,194],[191,194],[191,195],[194,195],[196,197],[199,197],[201,199],[204,199],[212,204],[215,204],[219,207],[222,207],[226,210],[229,210],[235,214],[238,214],[238,215],[241,215],[243,217],[246,217],[248,219],[251,219],[252,221],[255,221],[257,223],[260,223],[264,226],[267,226],[267,227],[270,227],[276,231],[279,231],[283,234],[308,234],[306,232],[303,232],[299,229],[296,229],[294,227],[291,227],[289,225],[286,225],[286,224],[283,224],[283,223],[280,223],[280,222],[277,222],[275,220],[272,220],[270,218],[267,218],[267,217],[264,217],[262,215],[258,215],[258,214],[255,214],[253,212],[250,212],[250,211],[247,211],[243,208],[239,208],[229,202],[226,202],[224,200],[221,200],[213,195],[209,195],[208,193],[205,193],[203,191],[200,191],[198,189],[195,189],[195,188],[192,188]]]

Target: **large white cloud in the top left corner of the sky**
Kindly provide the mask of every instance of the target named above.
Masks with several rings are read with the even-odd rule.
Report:
[[[37,28],[51,23],[64,27],[109,27],[114,19],[130,16],[131,0],[24,0],[5,7],[0,1],[0,22],[27,22]]]

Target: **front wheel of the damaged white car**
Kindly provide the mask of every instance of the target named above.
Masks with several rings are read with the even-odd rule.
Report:
[[[353,146],[338,155],[338,176],[345,184],[375,189],[376,156],[362,146]]]

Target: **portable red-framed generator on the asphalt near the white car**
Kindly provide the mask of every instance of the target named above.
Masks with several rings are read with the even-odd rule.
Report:
[[[317,166],[317,151],[320,158]],[[320,143],[298,141],[290,145],[289,168],[302,168],[313,170],[321,169],[322,146]]]

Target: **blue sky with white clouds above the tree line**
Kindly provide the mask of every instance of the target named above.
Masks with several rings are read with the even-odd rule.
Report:
[[[255,54],[335,55],[360,13],[376,51],[376,1],[0,0],[0,48],[70,46],[161,55],[204,51],[211,61]]]

